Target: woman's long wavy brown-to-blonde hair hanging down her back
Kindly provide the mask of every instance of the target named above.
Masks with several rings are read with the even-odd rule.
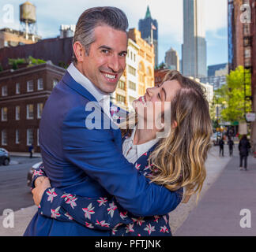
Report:
[[[149,157],[152,182],[164,185],[170,191],[184,187],[184,197],[201,192],[205,181],[205,160],[212,135],[209,104],[201,85],[171,70],[164,76],[177,80],[181,89],[171,100],[171,128],[166,138],[160,139]],[[154,172],[157,171],[157,172]],[[197,197],[197,200],[198,200]]]

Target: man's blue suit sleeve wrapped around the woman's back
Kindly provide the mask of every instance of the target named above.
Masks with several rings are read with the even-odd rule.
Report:
[[[100,183],[124,209],[134,215],[163,215],[175,209],[182,195],[150,183],[123,157],[113,141],[111,129],[88,129],[88,117],[89,113],[82,107],[66,114],[62,126],[66,160]],[[96,117],[96,120],[99,119]]]

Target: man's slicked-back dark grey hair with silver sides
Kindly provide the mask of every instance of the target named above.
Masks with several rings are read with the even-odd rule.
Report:
[[[85,53],[89,54],[90,46],[95,42],[94,29],[100,25],[126,32],[129,24],[126,14],[119,8],[106,6],[86,9],[77,21],[73,43],[79,41],[85,47]],[[77,62],[74,55],[73,61]]]

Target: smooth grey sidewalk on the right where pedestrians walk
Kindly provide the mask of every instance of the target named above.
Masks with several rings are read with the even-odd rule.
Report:
[[[216,183],[209,188],[174,235],[255,236],[256,158],[249,156],[247,163],[248,170],[240,171],[236,150],[234,158],[228,161]],[[245,217],[245,213],[240,216],[241,209],[250,210],[251,228],[240,227],[240,221]]]

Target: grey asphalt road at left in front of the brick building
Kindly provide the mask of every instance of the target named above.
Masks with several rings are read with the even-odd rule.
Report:
[[[32,194],[27,186],[29,168],[41,158],[11,157],[8,166],[0,166],[0,215],[4,209],[18,209],[32,206]]]

